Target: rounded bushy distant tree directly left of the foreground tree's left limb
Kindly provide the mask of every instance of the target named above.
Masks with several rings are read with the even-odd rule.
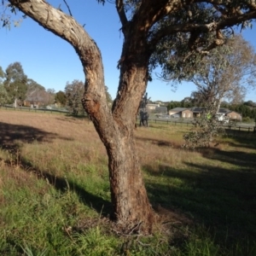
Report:
[[[84,95],[84,83],[79,80],[73,80],[72,83],[66,84],[65,95],[67,97],[67,109],[70,113],[77,115],[84,113],[81,99]]]

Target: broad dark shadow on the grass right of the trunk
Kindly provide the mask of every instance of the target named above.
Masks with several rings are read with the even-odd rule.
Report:
[[[223,246],[235,246],[244,239],[255,241],[256,173],[186,165],[187,170],[159,166],[158,172],[145,166],[146,172],[154,176],[154,182],[150,179],[146,183],[150,201],[183,212],[204,225]]]

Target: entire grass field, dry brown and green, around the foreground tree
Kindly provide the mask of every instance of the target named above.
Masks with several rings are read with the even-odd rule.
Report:
[[[92,123],[0,110],[0,255],[256,255],[256,135],[189,151],[189,128],[135,131],[160,218],[152,236],[121,236]]]

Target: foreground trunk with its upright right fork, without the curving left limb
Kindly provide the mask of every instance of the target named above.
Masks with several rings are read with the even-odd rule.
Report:
[[[130,96],[121,93],[113,104],[113,119],[118,131],[113,137],[114,143],[106,148],[113,218],[130,230],[137,225],[143,232],[150,232],[154,213],[148,201],[134,141],[137,108],[147,84],[147,65],[139,65],[143,58],[147,61],[147,55],[137,55],[137,61],[135,58],[132,62],[124,61],[120,67],[119,88],[125,90],[126,84]]]

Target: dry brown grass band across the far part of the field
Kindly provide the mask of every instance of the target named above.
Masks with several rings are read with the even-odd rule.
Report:
[[[2,145],[13,145],[15,140],[15,143],[22,144],[26,152],[31,147],[36,150],[37,143],[40,143],[42,153],[37,157],[49,158],[45,159],[46,161],[53,157],[44,154],[47,148],[63,157],[67,157],[65,152],[72,154],[72,161],[80,160],[81,156],[88,161],[99,159],[103,162],[107,161],[105,148],[94,126],[87,119],[4,110],[0,113]],[[180,127],[168,125],[165,128],[164,131],[154,127],[149,130],[138,128],[135,131],[142,165],[151,165],[158,161],[173,165],[182,158],[190,158],[190,154],[180,149],[183,143],[182,134],[177,135]]]

